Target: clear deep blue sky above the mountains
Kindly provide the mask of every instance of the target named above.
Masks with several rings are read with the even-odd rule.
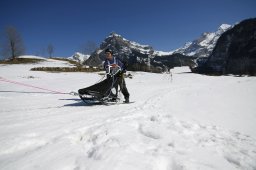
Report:
[[[112,31],[170,51],[222,23],[254,18],[255,9],[255,0],[1,0],[0,31],[15,26],[27,54],[51,43],[56,56],[67,57]]]

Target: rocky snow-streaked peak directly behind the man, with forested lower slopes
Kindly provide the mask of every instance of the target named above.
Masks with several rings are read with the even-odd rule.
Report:
[[[107,48],[113,50],[114,56],[118,56],[122,61],[128,63],[129,70],[161,72],[166,67],[180,66],[181,62],[184,63],[182,65],[188,65],[187,60],[190,60],[183,55],[175,54],[176,57],[172,57],[172,52],[155,51],[149,45],[141,45],[129,41],[119,34],[111,33],[85,64],[91,66],[102,65],[105,60],[104,50]]]

